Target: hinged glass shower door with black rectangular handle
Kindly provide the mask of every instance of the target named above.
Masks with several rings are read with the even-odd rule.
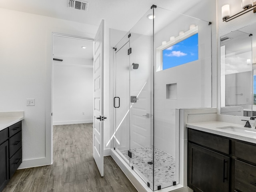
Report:
[[[115,132],[114,141],[116,152],[129,163],[128,150],[130,149],[130,76],[129,76],[129,49],[128,35],[117,45],[115,51],[115,88],[114,113]]]

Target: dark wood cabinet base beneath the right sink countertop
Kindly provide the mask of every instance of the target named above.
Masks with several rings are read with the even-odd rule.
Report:
[[[188,128],[188,186],[194,192],[256,192],[256,144]]]

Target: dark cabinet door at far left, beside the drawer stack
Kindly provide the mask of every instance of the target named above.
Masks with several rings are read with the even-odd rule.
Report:
[[[0,145],[0,191],[9,181],[9,152],[8,141]]]

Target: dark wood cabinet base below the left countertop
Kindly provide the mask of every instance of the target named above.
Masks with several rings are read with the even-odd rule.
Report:
[[[22,162],[21,121],[0,131],[0,191]]]

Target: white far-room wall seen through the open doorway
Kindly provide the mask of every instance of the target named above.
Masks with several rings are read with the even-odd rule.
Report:
[[[93,122],[93,60],[76,60],[53,62],[53,125]]]

